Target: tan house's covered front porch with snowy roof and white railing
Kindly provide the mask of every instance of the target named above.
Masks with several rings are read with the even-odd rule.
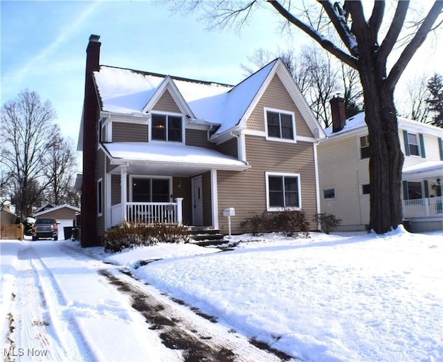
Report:
[[[248,166],[183,144],[107,144],[106,228],[121,223],[218,227],[217,170]]]

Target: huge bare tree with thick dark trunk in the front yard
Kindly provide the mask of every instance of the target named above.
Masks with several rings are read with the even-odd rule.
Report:
[[[193,4],[198,6],[198,3]],[[232,24],[234,21],[240,25],[247,23],[254,6],[268,5],[281,15],[288,26],[296,26],[325,51],[359,72],[370,139],[369,227],[380,234],[400,225],[403,221],[400,189],[404,155],[398,137],[394,92],[406,65],[428,33],[441,24],[443,1],[435,1],[424,17],[408,23],[408,26],[409,1],[398,1],[392,17],[385,14],[386,1],[374,1],[372,10],[367,3],[363,9],[362,1],[344,1],[343,6],[339,2],[316,1],[315,9],[296,8],[300,4],[298,1],[220,0],[205,3],[205,7],[210,4],[213,4],[210,12],[213,22]],[[312,26],[313,14],[320,12],[327,15],[331,24],[328,28]],[[365,14],[369,17],[366,18]],[[321,30],[318,31],[318,28]],[[329,33],[331,29],[340,42],[336,42],[334,35]],[[396,59],[390,62],[393,65],[388,70],[390,55]]]

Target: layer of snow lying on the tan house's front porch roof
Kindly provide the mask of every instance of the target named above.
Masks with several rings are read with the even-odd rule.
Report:
[[[111,157],[125,161],[174,164],[188,167],[209,166],[233,171],[242,171],[249,167],[244,162],[216,150],[186,146],[178,142],[115,142],[103,144],[103,146]]]

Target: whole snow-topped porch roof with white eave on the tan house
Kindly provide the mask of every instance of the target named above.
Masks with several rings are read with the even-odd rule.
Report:
[[[150,141],[103,144],[113,164],[125,164],[131,173],[195,175],[210,169],[244,171],[248,164],[217,150],[179,142]]]

